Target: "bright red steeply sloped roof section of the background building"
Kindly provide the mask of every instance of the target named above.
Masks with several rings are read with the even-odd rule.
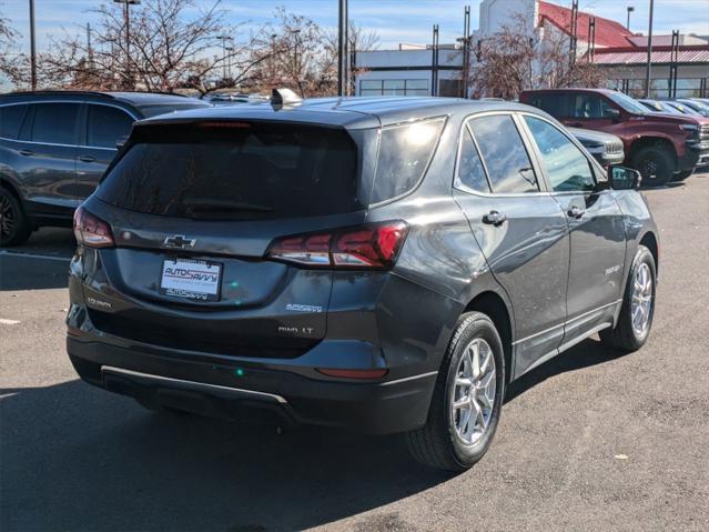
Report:
[[[539,23],[548,20],[567,34],[571,34],[571,10],[557,6],[556,3],[544,2],[539,0]],[[578,12],[577,32],[579,40],[588,41],[588,26],[591,18],[596,19],[596,46],[597,47],[628,47],[632,43],[628,37],[634,33],[626,29],[621,23],[615,20],[604,19],[594,14]]]

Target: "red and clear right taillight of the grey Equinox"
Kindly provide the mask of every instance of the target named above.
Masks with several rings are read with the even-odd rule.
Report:
[[[266,258],[310,268],[388,270],[408,225],[402,221],[293,234],[271,242]]]

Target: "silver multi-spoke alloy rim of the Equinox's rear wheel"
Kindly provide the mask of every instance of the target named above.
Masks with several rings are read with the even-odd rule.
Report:
[[[490,424],[496,381],[493,348],[476,338],[464,351],[450,392],[450,419],[456,435],[467,445],[477,443]]]

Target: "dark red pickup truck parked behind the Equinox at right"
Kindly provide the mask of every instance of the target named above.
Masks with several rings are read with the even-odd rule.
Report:
[[[709,120],[702,117],[651,113],[632,98],[606,89],[525,91],[520,101],[567,126],[619,137],[628,165],[649,187],[685,179],[709,162]]]

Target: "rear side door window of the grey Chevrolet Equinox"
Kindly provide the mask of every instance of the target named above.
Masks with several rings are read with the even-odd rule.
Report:
[[[538,192],[539,185],[517,127],[509,114],[470,120],[470,129],[495,193]]]

